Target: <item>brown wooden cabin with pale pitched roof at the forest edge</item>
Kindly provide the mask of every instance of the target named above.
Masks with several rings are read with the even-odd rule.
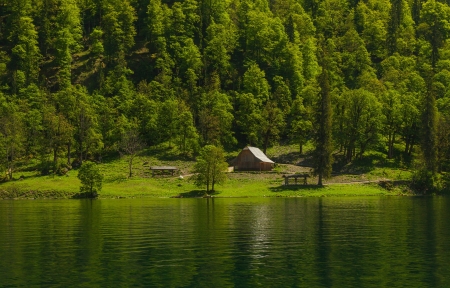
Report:
[[[275,162],[270,160],[259,148],[247,146],[233,160],[234,170],[271,171]]]

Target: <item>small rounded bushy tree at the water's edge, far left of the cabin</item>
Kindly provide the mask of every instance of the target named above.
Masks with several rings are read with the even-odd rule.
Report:
[[[78,179],[81,181],[80,192],[87,193],[95,198],[102,190],[103,175],[94,162],[85,162],[78,171]]]

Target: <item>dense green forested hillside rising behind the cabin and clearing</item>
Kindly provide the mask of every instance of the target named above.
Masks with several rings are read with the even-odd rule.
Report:
[[[449,4],[1,0],[0,163],[283,140],[312,141],[324,176],[331,150],[448,170]]]

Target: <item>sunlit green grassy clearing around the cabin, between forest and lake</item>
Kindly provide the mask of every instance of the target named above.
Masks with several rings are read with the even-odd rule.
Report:
[[[308,180],[311,185],[284,186],[283,175],[309,172],[309,159],[296,152],[295,146],[277,146],[267,153],[277,163],[273,172],[231,172],[224,185],[216,187],[213,197],[322,197],[322,196],[375,196],[405,195],[405,186],[395,186],[392,181],[409,179],[411,173],[388,162],[381,154],[369,154],[364,162],[337,167],[325,187],[317,187],[317,179]],[[228,158],[237,155],[230,153]],[[99,164],[104,175],[103,189],[99,198],[142,198],[142,197],[202,197],[204,190],[189,181],[194,165],[193,159],[177,156],[168,148],[151,148],[143,151],[134,160],[133,177],[127,177],[127,158],[106,159]],[[158,175],[153,177],[150,166],[177,166],[179,175]],[[0,184],[0,199],[37,198],[81,198],[77,170],[64,176],[41,176],[33,163],[24,165],[15,173],[17,179]],[[380,185],[381,182],[384,185]],[[387,183],[387,184],[386,184]],[[386,189],[387,188],[387,189]]]

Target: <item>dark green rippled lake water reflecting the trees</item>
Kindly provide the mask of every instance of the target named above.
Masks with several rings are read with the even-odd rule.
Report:
[[[0,287],[450,287],[450,198],[0,201]]]

